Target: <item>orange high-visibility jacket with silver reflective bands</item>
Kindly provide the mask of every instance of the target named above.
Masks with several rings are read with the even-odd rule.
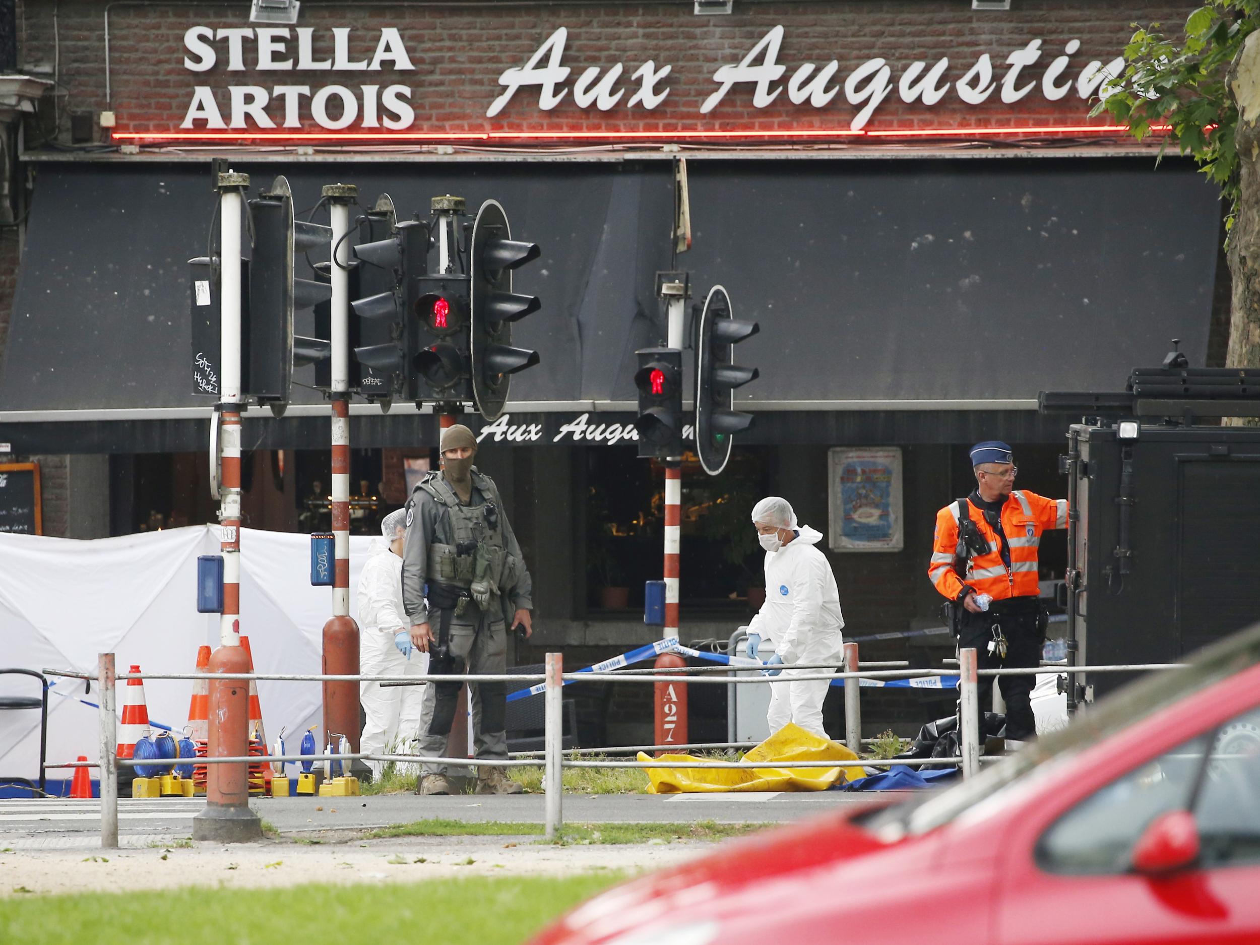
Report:
[[[1002,507],[1002,530],[1011,548],[1011,567],[1002,561],[998,532],[984,520],[984,512],[970,499],[966,510],[989,551],[969,558],[966,577],[954,571],[954,549],[958,546],[958,503],[951,501],[936,513],[936,537],[932,542],[932,561],[927,577],[932,586],[951,601],[958,600],[963,585],[976,593],[988,593],[993,600],[1007,597],[1036,597],[1037,547],[1041,533],[1047,528],[1067,528],[1067,499],[1047,499],[1036,493],[1014,490]]]

